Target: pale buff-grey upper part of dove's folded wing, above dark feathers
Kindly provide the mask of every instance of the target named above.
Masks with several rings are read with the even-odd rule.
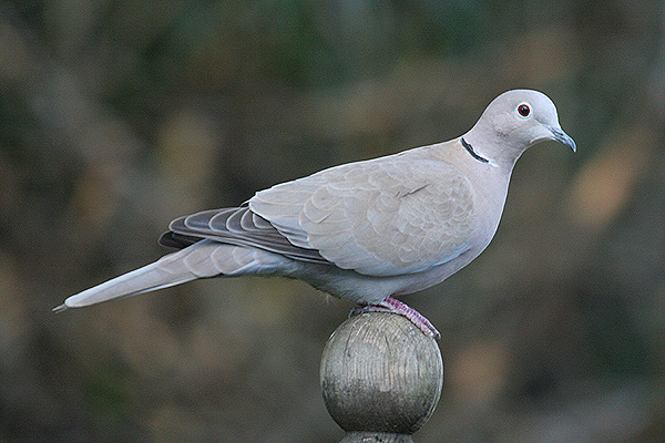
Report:
[[[288,241],[369,276],[419,272],[471,243],[473,190],[451,165],[393,155],[257,193],[249,209]]]

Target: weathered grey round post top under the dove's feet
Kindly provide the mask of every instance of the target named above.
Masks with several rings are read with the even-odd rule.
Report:
[[[443,361],[405,317],[365,312],[330,336],[320,381],[328,413],[347,432],[340,443],[412,443],[441,396]]]

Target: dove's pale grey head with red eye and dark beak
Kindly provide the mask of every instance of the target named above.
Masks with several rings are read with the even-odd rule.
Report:
[[[464,140],[483,157],[514,164],[530,146],[548,140],[575,151],[575,142],[559,124],[556,106],[542,92],[513,90],[494,99]]]

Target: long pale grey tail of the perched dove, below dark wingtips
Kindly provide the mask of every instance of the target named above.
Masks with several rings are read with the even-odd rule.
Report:
[[[270,271],[282,257],[252,248],[201,240],[157,261],[71,296],[54,308],[81,308],[219,275]]]

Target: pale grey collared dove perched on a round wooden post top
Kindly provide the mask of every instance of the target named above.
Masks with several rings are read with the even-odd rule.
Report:
[[[197,278],[296,278],[369,309],[433,326],[395,296],[437,285],[494,236],[513,166],[553,140],[575,151],[544,94],[508,91],[449,142],[342,164],[260,190],[243,205],[176,218],[157,261],[69,297],[79,308]]]

